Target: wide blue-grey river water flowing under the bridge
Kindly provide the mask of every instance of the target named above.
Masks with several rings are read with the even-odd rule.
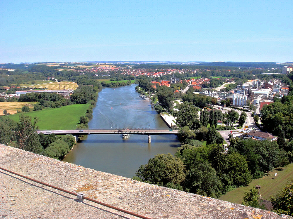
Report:
[[[135,91],[137,85],[103,88],[99,92],[89,129],[168,129],[150,100]],[[176,135],[88,135],[74,146],[63,161],[98,171],[133,177],[142,164],[157,154],[175,154],[180,142]]]

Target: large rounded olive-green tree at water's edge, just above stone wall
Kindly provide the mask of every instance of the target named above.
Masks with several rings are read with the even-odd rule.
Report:
[[[172,154],[158,154],[149,159],[146,165],[139,167],[136,176],[145,182],[165,186],[167,183],[178,184],[185,180],[183,162]]]

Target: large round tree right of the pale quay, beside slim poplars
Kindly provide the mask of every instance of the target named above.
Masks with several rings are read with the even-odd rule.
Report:
[[[197,108],[190,102],[180,104],[178,111],[174,112],[174,116],[180,127],[197,128],[200,126],[200,121],[197,118]]]

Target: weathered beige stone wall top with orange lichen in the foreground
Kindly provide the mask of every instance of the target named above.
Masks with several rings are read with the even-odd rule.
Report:
[[[0,166],[150,218],[292,218],[0,145]],[[0,170],[0,218],[136,218]]]

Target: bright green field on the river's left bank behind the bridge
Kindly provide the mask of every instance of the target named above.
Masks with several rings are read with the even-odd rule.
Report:
[[[39,111],[24,113],[30,117],[37,116],[40,130],[52,129],[75,129],[79,124],[79,118],[85,115],[90,104],[73,104],[60,108],[48,108]],[[13,114],[6,117],[19,121],[20,114]]]

